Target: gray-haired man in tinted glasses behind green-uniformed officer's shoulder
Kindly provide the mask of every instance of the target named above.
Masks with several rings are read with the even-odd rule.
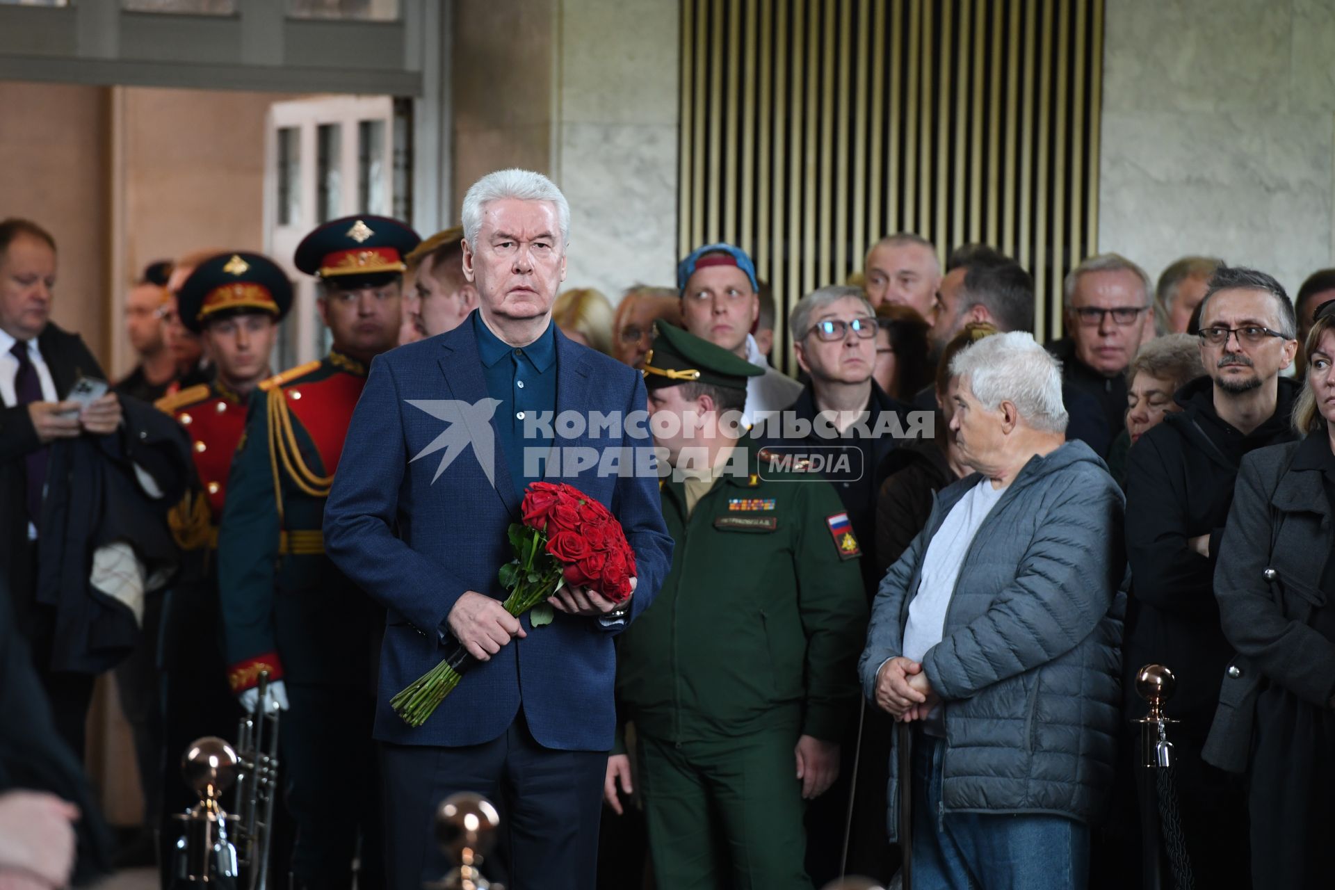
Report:
[[[908,406],[890,398],[872,379],[876,366],[876,311],[856,287],[822,287],[798,300],[789,324],[797,363],[810,380],[789,411],[798,423],[810,423],[812,434],[800,442],[770,439],[774,452],[809,452],[813,466],[821,458],[825,478],[834,486],[848,512],[853,535],[873,540],[876,492],[880,491],[878,468],[898,440],[884,432],[908,430]],[[878,426],[881,430],[878,430]],[[881,432],[878,435],[878,432]],[[830,458],[834,458],[833,466]],[[840,462],[838,458],[846,458]],[[765,460],[764,452],[761,456]],[[862,592],[868,603],[880,582],[874,559],[861,560]],[[873,719],[877,719],[874,715]],[[889,721],[877,719],[888,737]],[[857,725],[842,727],[844,749],[856,750]],[[884,750],[884,749],[882,749]],[[852,758],[849,759],[852,765]],[[844,849],[852,770],[836,782],[829,794],[817,798],[809,810],[806,830],[810,835],[806,867],[817,886],[840,873],[838,855]],[[874,791],[870,791],[876,798]],[[884,798],[872,813],[884,813]],[[865,830],[869,829],[869,830]],[[874,815],[870,826],[857,826],[850,838],[850,871],[877,869],[884,853],[884,822]]]

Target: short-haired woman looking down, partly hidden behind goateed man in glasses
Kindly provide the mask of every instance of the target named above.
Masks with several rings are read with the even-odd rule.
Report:
[[[1181,406],[1173,394],[1196,378],[1206,376],[1200,363],[1200,338],[1168,334],[1145,340],[1127,366],[1127,428],[1108,448],[1108,472],[1127,484],[1127,452],[1140,436]]]

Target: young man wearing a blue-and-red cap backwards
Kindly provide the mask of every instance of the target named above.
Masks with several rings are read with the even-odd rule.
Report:
[[[677,288],[681,291],[681,320],[688,331],[765,368],[765,374],[746,382],[742,423],[756,423],[792,404],[802,384],[772,368],[752,336],[760,319],[760,282],[750,256],[722,242],[705,244],[677,266]]]

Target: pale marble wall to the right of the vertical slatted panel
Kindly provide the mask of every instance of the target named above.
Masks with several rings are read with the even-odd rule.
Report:
[[[1335,0],[1107,0],[1099,248],[1290,292],[1335,254]]]

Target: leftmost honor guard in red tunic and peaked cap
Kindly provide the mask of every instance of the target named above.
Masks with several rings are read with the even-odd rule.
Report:
[[[268,356],[292,304],[292,286],[266,256],[222,254],[199,264],[178,299],[182,324],[203,339],[218,372],[211,383],[156,402],[184,427],[198,474],[195,490],[170,516],[183,570],[166,596],[158,652],[167,746],[164,863],[171,862],[166,853],[176,839],[171,814],[198,802],[180,781],[180,753],[202,735],[231,738],[236,731],[218,618],[218,523],[250,395],[271,374]]]

